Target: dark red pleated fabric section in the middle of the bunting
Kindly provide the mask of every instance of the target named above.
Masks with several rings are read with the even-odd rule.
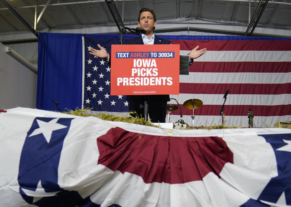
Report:
[[[141,176],[145,183],[202,180],[209,172],[219,176],[225,163],[233,163],[225,141],[214,136],[155,136],[115,127],[97,138],[97,144],[98,164]]]

